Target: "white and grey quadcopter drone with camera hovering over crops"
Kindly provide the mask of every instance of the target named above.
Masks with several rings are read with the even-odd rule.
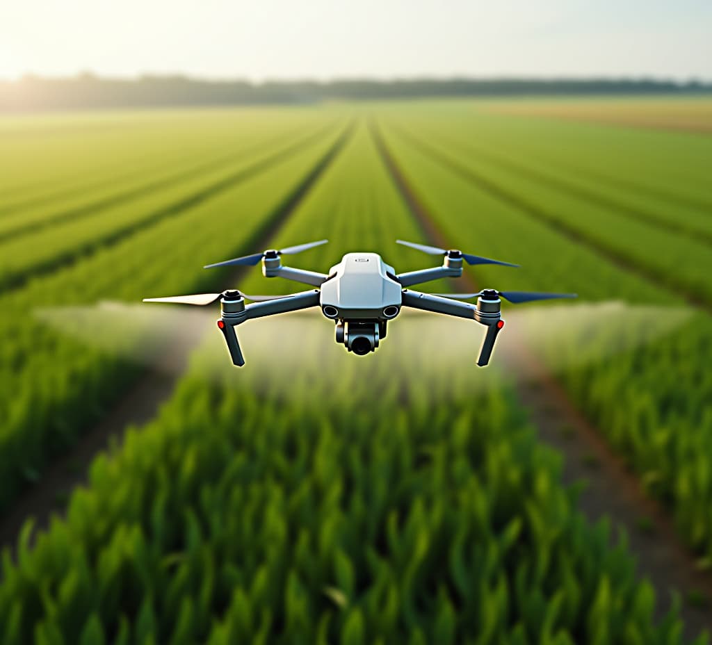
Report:
[[[340,263],[330,268],[329,273],[283,266],[282,256],[306,251],[308,248],[327,242],[328,240],[319,240],[279,250],[268,249],[263,253],[254,253],[251,256],[234,258],[204,267],[256,266],[261,261],[262,273],[266,278],[280,276],[314,287],[307,291],[286,295],[248,295],[240,290],[230,289],[222,293],[145,298],[144,302],[204,306],[219,300],[221,316],[217,325],[225,337],[232,362],[238,367],[245,365],[245,359],[235,327],[253,318],[310,307],[319,307],[326,318],[334,321],[336,342],[345,345],[349,352],[357,356],[375,352],[379,342],[386,337],[388,323],[397,318],[404,307],[475,320],[486,327],[477,360],[477,365],[484,367],[490,360],[497,335],[504,327],[504,320],[501,318],[501,298],[510,303],[576,298],[575,293],[536,293],[496,289],[483,289],[478,293],[449,294],[414,291],[410,288],[413,285],[440,278],[459,278],[462,276],[464,261],[471,265],[498,264],[513,267],[518,265],[469,255],[456,249],[436,248],[403,240],[397,240],[397,243],[434,256],[443,256],[442,266],[409,273],[395,273],[394,268],[385,263],[377,253],[360,252],[346,253]],[[477,298],[476,304],[461,302],[473,298]],[[251,304],[246,305],[245,300],[251,300]]]

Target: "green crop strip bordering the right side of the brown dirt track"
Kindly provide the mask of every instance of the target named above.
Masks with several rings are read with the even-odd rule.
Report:
[[[690,313],[637,272],[617,268],[590,246],[572,243],[527,211],[499,201],[409,140],[384,129],[399,163],[449,238],[474,253],[520,262],[523,268],[478,268],[479,283],[497,288],[571,290],[584,300],[655,303],[644,320],[627,324],[627,310],[602,311],[599,325],[582,324],[572,309],[557,332],[533,312],[532,347],[561,372],[572,399],[606,434],[651,493],[671,507],[684,535],[712,561],[712,380],[706,356],[712,320]],[[462,163],[468,163],[462,157]],[[576,210],[573,212],[577,212]],[[468,222],[468,226],[462,226]],[[508,273],[506,273],[508,272]],[[667,320],[667,333],[649,335]],[[553,324],[553,323],[552,323]],[[538,337],[543,332],[546,337]],[[526,335],[526,329],[523,330]],[[648,336],[641,346],[641,338]]]

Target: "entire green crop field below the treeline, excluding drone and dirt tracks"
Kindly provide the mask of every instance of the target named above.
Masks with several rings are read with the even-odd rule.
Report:
[[[26,521],[4,549],[0,642],[707,642],[691,612],[712,598],[651,582],[614,500],[585,515],[518,372],[531,352],[669,518],[650,539],[712,570],[710,105],[1,118],[0,515]],[[295,266],[362,249],[410,271],[433,258],[395,239],[435,235],[521,268],[427,290],[580,302],[505,304],[487,369],[468,321],[404,313],[361,358],[318,310],[239,327],[236,369],[216,310],[140,304],[295,290],[201,267],[311,239],[330,243]],[[51,491],[162,352],[188,365],[155,418]],[[38,531],[43,487],[58,516]]]

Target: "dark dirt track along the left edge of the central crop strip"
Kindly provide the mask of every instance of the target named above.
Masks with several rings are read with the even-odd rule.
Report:
[[[271,239],[276,236],[290,215],[298,208],[310,189],[328,169],[337,154],[345,147],[355,124],[350,123],[342,135],[321,157],[302,182],[296,187],[277,208],[266,217],[263,225],[251,238],[246,240],[235,254],[254,252],[255,249],[267,248]],[[234,284],[239,284],[240,278],[251,268],[240,268],[231,276]],[[224,280],[221,279],[224,287]],[[212,327],[210,328],[212,332]],[[145,372],[130,391],[115,405],[114,409],[92,429],[83,434],[78,444],[65,456],[53,461],[40,480],[28,488],[0,518],[0,547],[11,547],[14,550],[16,538],[28,518],[34,518],[37,530],[46,528],[53,514],[61,513],[66,506],[66,500],[72,488],[85,483],[89,464],[93,457],[107,449],[115,441],[120,442],[122,435],[130,425],[141,425],[152,419],[159,407],[172,395],[181,377],[187,359],[195,347],[201,342],[200,335],[186,336],[175,345],[174,352],[167,356],[161,365]]]

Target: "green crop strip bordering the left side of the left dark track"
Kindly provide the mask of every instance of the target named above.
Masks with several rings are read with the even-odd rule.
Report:
[[[205,199],[63,271],[0,299],[1,505],[47,461],[100,419],[140,369],[134,362],[75,340],[51,326],[53,309],[98,300],[139,302],[147,295],[226,288],[209,261],[253,251],[283,205],[336,150],[343,124],[318,142],[236,187]],[[279,189],[276,190],[275,186]],[[101,334],[101,328],[93,334]]]

